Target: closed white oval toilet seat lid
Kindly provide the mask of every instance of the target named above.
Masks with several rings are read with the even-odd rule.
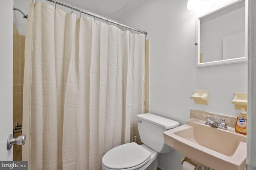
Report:
[[[146,160],[148,161],[150,155],[151,153],[148,150],[140,147],[137,143],[126,143],[109,150],[103,156],[102,164],[110,169],[132,168],[142,164]]]

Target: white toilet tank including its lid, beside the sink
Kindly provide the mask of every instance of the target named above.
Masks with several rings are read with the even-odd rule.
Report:
[[[172,147],[164,143],[164,131],[178,127],[179,122],[154,115],[143,113],[137,115],[138,130],[142,143],[158,153],[166,153],[172,150]]]

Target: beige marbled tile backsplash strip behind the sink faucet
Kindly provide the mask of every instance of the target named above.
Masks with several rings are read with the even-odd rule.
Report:
[[[207,118],[204,115],[212,116],[212,118],[211,118],[212,121],[214,121],[214,118],[217,118],[218,122],[221,121],[220,118],[225,118],[227,126],[233,127],[233,128],[235,128],[235,126],[236,126],[236,117],[221,115],[221,114],[211,113],[211,112],[206,112],[206,111],[201,111],[201,110],[190,109],[190,118],[206,120]]]

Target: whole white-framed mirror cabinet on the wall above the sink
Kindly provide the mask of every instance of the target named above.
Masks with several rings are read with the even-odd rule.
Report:
[[[232,0],[196,18],[196,66],[248,61],[248,0]]]

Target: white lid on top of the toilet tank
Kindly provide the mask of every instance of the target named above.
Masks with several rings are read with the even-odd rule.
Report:
[[[150,123],[153,123],[159,127],[162,127],[164,129],[172,129],[174,127],[178,127],[180,125],[179,122],[167,119],[165,117],[161,117],[158,115],[154,115],[151,113],[143,113],[140,115],[137,115],[138,119],[142,119],[144,121],[148,121]]]

